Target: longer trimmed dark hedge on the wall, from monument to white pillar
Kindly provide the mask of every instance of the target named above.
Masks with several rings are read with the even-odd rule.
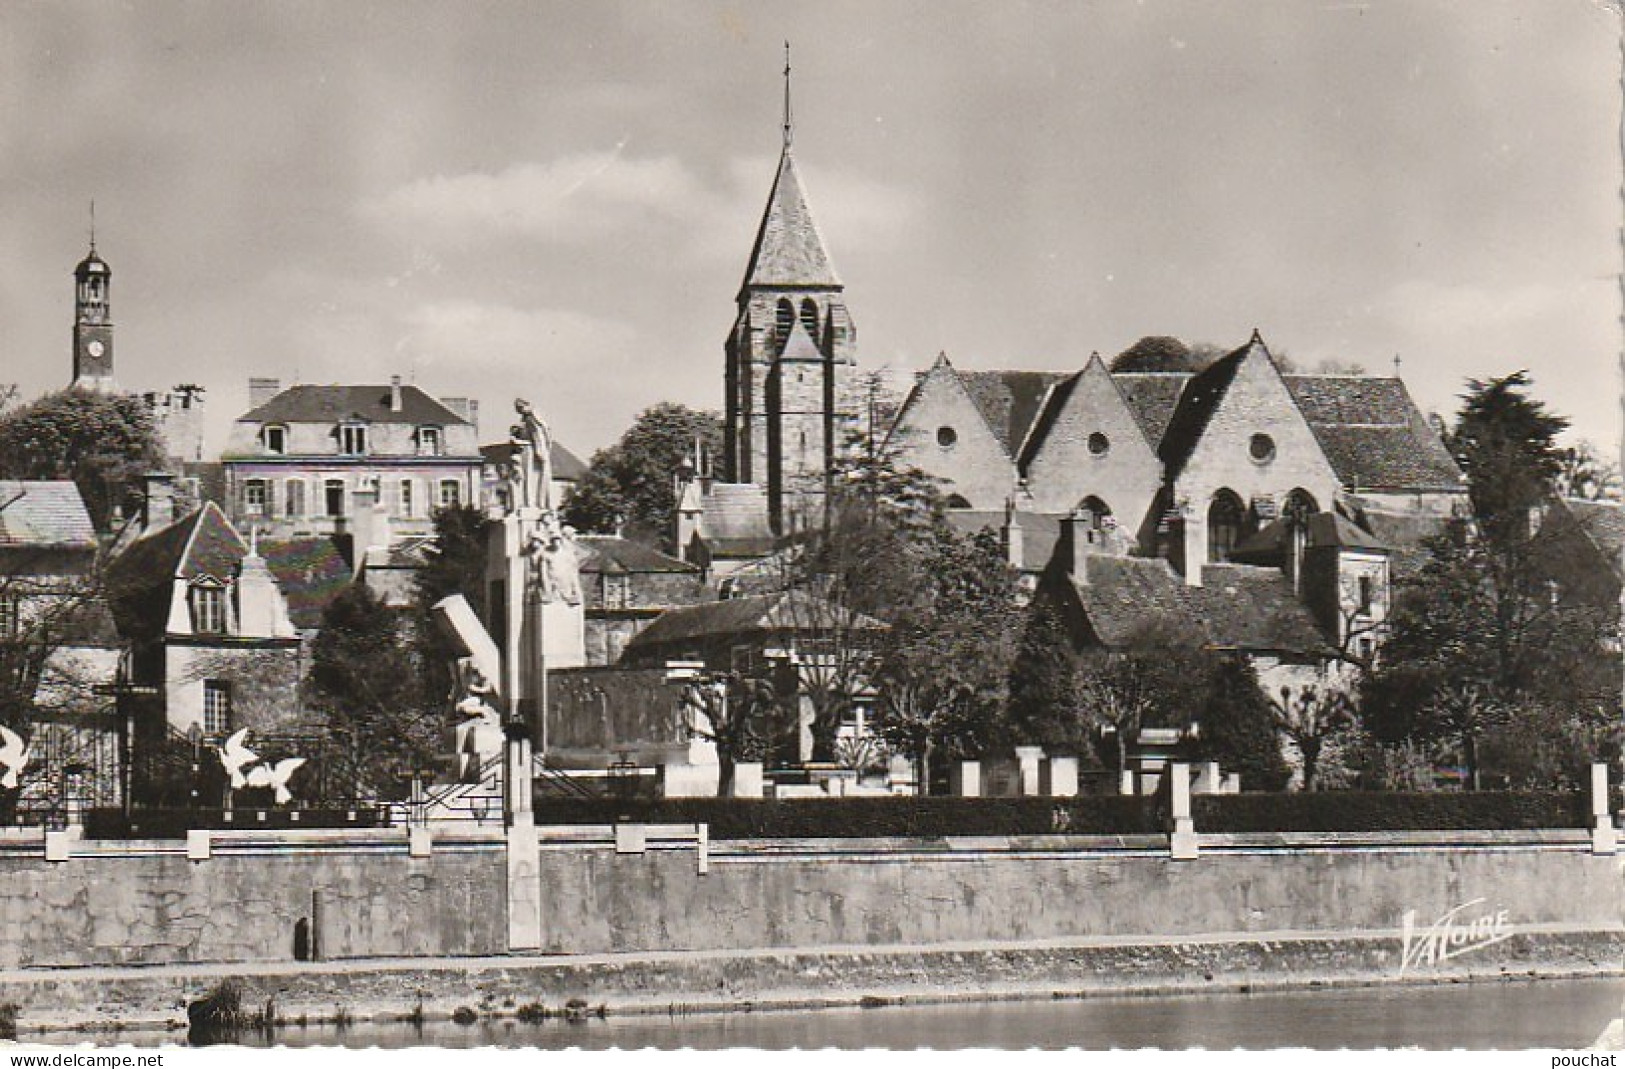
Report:
[[[712,838],[1157,835],[1154,798],[536,799],[536,824],[708,824]]]

